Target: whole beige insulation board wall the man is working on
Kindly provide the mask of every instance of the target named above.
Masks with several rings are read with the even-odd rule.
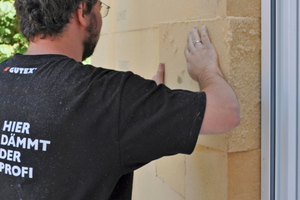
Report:
[[[188,31],[206,25],[220,67],[236,91],[241,125],[200,136],[191,155],[165,157],[135,172],[134,200],[260,199],[260,0],[103,0],[111,6],[92,64],[199,91],[186,71]]]

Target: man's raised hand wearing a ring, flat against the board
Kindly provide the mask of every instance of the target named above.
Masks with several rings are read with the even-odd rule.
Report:
[[[189,75],[201,87],[203,87],[201,83],[206,78],[207,73],[217,72],[222,75],[217,52],[210,42],[205,26],[202,26],[200,34],[197,28],[189,32],[185,57]]]

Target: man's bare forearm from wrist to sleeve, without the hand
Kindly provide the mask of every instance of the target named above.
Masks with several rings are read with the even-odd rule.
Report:
[[[240,123],[240,110],[236,95],[221,71],[199,79],[207,103],[201,134],[226,133]]]

